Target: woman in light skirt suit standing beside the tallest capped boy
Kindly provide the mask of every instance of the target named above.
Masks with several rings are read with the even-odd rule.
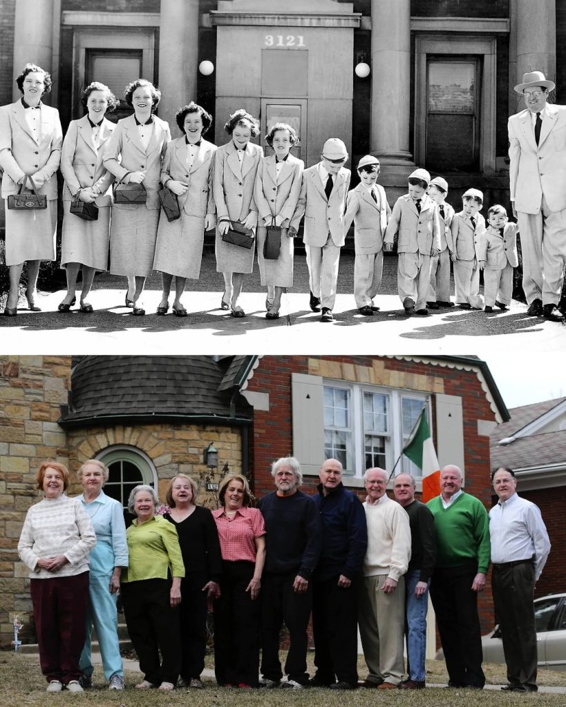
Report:
[[[303,160],[298,160],[289,150],[299,142],[294,128],[287,123],[276,123],[265,136],[274,154],[266,157],[258,167],[255,177],[254,198],[258,206],[258,264],[261,284],[267,286],[266,319],[277,319],[283,288],[293,286],[293,239],[287,235],[291,216],[301,193]],[[267,236],[266,226],[281,226],[279,257],[263,257]]]

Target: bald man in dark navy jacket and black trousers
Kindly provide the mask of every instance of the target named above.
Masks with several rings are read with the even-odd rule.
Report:
[[[323,548],[314,574],[311,685],[351,690],[358,684],[356,597],[367,547],[366,514],[359,498],[342,486],[338,460],[323,463],[317,488]]]

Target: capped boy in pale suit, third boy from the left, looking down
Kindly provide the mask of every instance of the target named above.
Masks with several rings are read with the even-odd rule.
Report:
[[[427,197],[427,170],[415,170],[408,181],[409,193],[399,197],[393,206],[383,250],[393,250],[398,233],[397,288],[405,314],[428,315],[431,258],[440,251],[438,207]]]

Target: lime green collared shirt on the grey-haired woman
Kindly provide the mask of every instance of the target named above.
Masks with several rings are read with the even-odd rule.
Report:
[[[129,563],[122,582],[184,577],[185,565],[175,526],[162,515],[138,525],[137,518],[126,531]]]

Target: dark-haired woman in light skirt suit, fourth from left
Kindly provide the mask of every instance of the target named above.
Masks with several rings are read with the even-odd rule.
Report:
[[[185,290],[187,278],[199,279],[204,231],[216,226],[212,196],[216,145],[202,137],[212,125],[212,116],[200,105],[185,105],[178,110],[175,120],[183,137],[167,146],[161,167],[161,183],[177,195],[181,216],[175,221],[168,221],[165,214],[161,214],[154,270],[161,271],[163,282],[158,315],[167,314],[171,282],[175,276],[173,313],[186,317],[187,310],[180,303],[180,296]]]

